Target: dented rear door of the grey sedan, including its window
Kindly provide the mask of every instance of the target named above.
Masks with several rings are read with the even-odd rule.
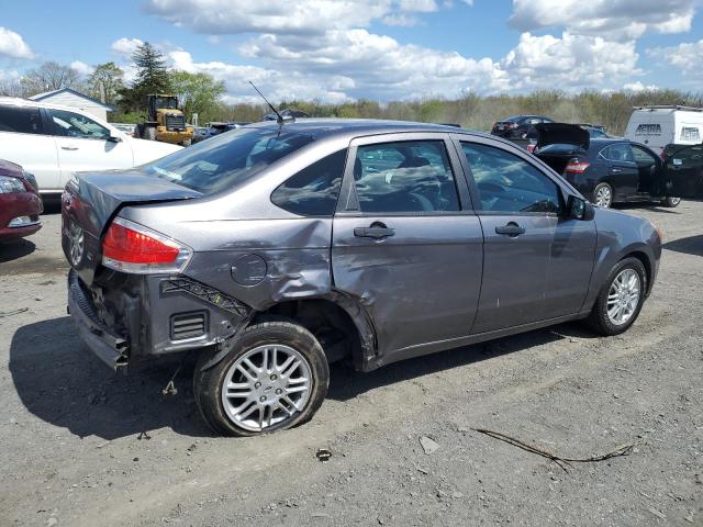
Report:
[[[483,237],[448,146],[445,134],[409,133],[349,147],[334,287],[368,313],[382,362],[446,348],[473,323]]]

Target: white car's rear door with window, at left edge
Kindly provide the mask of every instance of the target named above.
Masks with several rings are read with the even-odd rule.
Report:
[[[38,108],[0,105],[0,159],[32,172],[42,192],[59,191],[56,144],[44,130]]]

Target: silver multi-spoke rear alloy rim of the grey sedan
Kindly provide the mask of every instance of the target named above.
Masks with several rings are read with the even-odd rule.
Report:
[[[263,431],[302,412],[311,391],[312,369],[298,350],[264,345],[230,367],[222,384],[222,404],[234,424]]]

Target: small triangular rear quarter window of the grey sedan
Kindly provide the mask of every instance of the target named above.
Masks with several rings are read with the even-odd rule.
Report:
[[[274,204],[301,216],[332,216],[337,205],[347,150],[303,168],[274,191]]]

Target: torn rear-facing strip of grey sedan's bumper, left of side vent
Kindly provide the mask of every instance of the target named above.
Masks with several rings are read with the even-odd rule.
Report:
[[[78,282],[78,274],[72,270],[68,274],[68,312],[78,327],[80,338],[100,360],[113,370],[127,366],[127,341],[103,327]]]

